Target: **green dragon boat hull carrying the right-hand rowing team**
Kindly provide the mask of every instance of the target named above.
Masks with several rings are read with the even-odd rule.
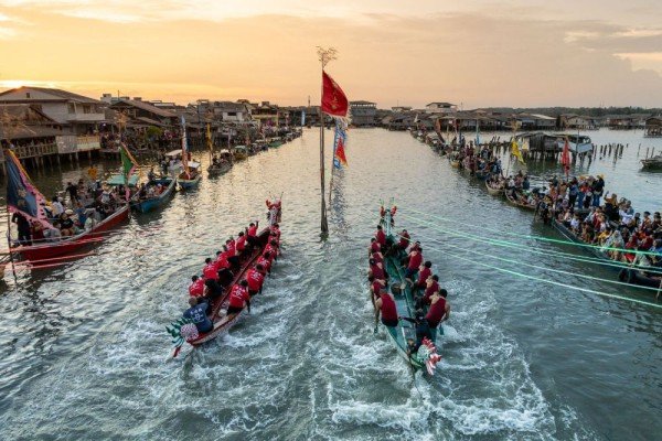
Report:
[[[391,244],[396,244],[397,238],[391,232],[389,214],[386,214],[382,226],[386,232],[387,240]],[[399,251],[393,256],[384,257],[384,269],[389,277],[389,289],[393,298],[395,299],[395,305],[397,308],[398,316],[413,318],[416,311],[414,295],[412,293],[412,287],[405,281],[405,272],[401,267],[399,262],[405,257],[404,251]],[[397,326],[386,326],[380,321],[380,326],[385,327],[389,336],[391,342],[394,344],[397,353],[409,363],[415,369],[427,369],[430,375],[434,375],[435,365],[438,362],[436,354],[436,347],[434,345],[437,333],[433,330],[433,344],[420,345],[416,353],[408,354],[407,341],[416,341],[416,329],[414,323],[406,320],[399,320]]]

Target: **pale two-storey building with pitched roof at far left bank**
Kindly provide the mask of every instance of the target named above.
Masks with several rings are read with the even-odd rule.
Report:
[[[105,120],[102,101],[61,89],[22,86],[0,93],[0,104],[39,106],[71,135],[98,133],[98,127]]]

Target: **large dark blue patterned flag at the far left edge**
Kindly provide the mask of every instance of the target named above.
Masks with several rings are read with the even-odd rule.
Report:
[[[10,213],[21,213],[29,220],[36,220],[51,229],[43,207],[49,203],[43,194],[30,182],[30,178],[15,154],[6,149],[7,163],[7,208]]]

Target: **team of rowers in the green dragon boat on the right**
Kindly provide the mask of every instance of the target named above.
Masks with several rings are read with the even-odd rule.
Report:
[[[401,320],[406,320],[416,326],[416,342],[408,342],[408,351],[415,353],[423,343],[424,337],[434,341],[433,330],[450,316],[450,304],[447,301],[448,292],[439,284],[439,276],[433,273],[433,262],[424,261],[420,243],[410,245],[410,236],[406,229],[398,234],[399,240],[392,243],[386,237],[381,225],[377,226],[375,237],[371,239],[369,248],[369,277],[371,298],[375,306],[375,323],[380,319],[382,324],[389,327],[398,325]],[[384,259],[387,256],[401,258],[399,265],[405,271],[405,280],[412,287],[415,301],[414,318],[402,316],[397,311],[395,297],[388,292],[388,272]],[[397,290],[394,290],[397,292]],[[404,295],[404,289],[397,295]]]

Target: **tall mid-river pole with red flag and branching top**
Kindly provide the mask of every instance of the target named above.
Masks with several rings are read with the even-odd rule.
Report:
[[[324,114],[346,118],[349,110],[348,98],[340,86],[325,72],[324,67],[337,58],[338,51],[333,47],[324,49],[318,46],[318,56],[322,65],[322,94],[320,99],[320,196],[321,196],[321,230],[322,234],[329,233],[329,223],[327,220],[327,201],[324,198]]]

